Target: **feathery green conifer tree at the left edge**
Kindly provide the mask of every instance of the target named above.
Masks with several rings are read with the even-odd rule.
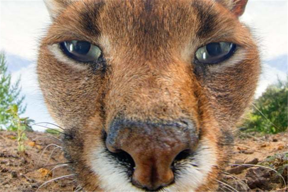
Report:
[[[16,104],[18,113],[25,112],[26,106],[22,106],[24,96],[20,96],[20,78],[15,84],[11,84],[11,74],[7,72],[5,54],[0,53],[0,129],[13,130],[12,117],[6,113],[9,106]],[[32,129],[31,129],[32,130]],[[15,130],[14,130],[15,131]]]

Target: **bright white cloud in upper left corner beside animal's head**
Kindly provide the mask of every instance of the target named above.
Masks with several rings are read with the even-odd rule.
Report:
[[[50,23],[43,1],[0,2],[0,49],[35,59],[39,38]]]

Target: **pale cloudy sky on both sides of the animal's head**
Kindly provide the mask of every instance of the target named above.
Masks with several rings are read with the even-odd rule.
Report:
[[[287,1],[249,0],[240,21],[259,42],[262,75],[255,98],[277,78],[287,79]],[[52,122],[35,73],[38,42],[51,23],[42,0],[0,0],[0,50],[5,51],[12,82],[21,76],[27,110],[23,117]],[[36,130],[43,128],[33,127]]]

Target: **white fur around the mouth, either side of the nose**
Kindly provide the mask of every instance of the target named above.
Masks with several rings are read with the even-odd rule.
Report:
[[[216,154],[213,146],[209,145],[208,139],[199,141],[197,150],[194,153],[193,162],[196,166],[187,165],[185,169],[179,170],[175,183],[163,187],[161,191],[195,191],[202,184],[213,166],[216,166]],[[103,146],[98,146],[92,151],[90,161],[92,170],[99,176],[99,187],[104,191],[145,191],[135,187],[130,178],[115,161],[111,161],[103,151]]]

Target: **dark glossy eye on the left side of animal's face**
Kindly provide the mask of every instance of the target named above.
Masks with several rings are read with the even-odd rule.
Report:
[[[64,54],[77,61],[97,61],[101,56],[100,48],[87,41],[64,41],[60,46]]]

